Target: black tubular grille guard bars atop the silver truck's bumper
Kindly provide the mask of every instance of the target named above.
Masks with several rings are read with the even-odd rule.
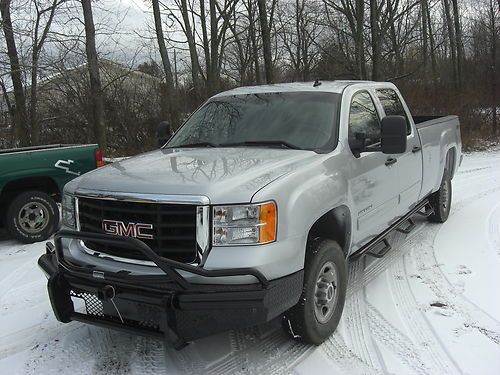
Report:
[[[165,275],[135,275],[130,271],[120,270],[118,272],[100,271],[92,266],[81,266],[74,264],[64,258],[62,239],[75,239],[83,241],[94,241],[102,244],[123,246],[140,251],[146,258],[151,260],[160,268]],[[187,281],[178,270],[186,271],[203,277],[223,277],[223,276],[253,276],[260,283],[262,289],[269,286],[269,280],[259,271],[254,268],[235,268],[235,269],[217,269],[207,270],[201,266],[193,266],[184,264],[175,260],[167,259],[156,254],[148,245],[138,240],[137,238],[114,236],[108,234],[89,233],[74,230],[60,230],[54,235],[54,245],[47,243],[47,252],[55,252],[59,267],[74,274],[92,279],[106,279],[109,281],[130,281],[130,282],[173,282],[182,290],[193,288],[193,284]]]

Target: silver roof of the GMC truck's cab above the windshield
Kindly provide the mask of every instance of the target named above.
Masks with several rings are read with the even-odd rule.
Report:
[[[350,85],[363,84],[363,86],[380,86],[391,85],[387,82],[374,82],[374,81],[320,81],[321,85],[314,87],[314,82],[292,82],[292,83],[276,83],[271,85],[259,86],[244,86],[232,90],[221,92],[214,97],[231,96],[231,95],[245,95],[245,94],[259,94],[267,92],[331,92],[341,94],[342,91]]]

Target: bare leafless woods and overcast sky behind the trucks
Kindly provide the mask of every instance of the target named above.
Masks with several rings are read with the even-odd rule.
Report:
[[[122,58],[110,83],[96,43],[120,31],[109,1],[0,0],[4,147],[134,154],[155,147],[160,121],[177,128],[217,92],[316,78],[392,81],[413,114],[458,114],[466,148],[498,142],[500,0],[131,1],[149,28],[129,33],[130,48],[155,44],[148,58]],[[96,24],[96,9],[108,22]],[[67,72],[81,64],[75,82]],[[138,94],[126,83],[135,70],[159,84]]]

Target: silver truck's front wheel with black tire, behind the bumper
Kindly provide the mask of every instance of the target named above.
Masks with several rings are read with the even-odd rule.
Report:
[[[347,290],[347,264],[332,240],[316,240],[306,254],[304,287],[297,305],[285,313],[285,329],[319,345],[337,328]]]

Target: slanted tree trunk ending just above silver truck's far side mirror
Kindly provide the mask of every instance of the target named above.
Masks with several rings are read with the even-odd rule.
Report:
[[[172,129],[177,129],[179,126],[179,116],[174,102],[174,77],[172,75],[172,65],[168,57],[167,46],[165,45],[165,37],[163,35],[163,27],[161,24],[160,5],[158,0],[152,0],[153,16],[155,20],[156,39],[160,50],[163,71],[165,73],[165,88],[167,90],[168,110],[170,113],[170,126]]]

